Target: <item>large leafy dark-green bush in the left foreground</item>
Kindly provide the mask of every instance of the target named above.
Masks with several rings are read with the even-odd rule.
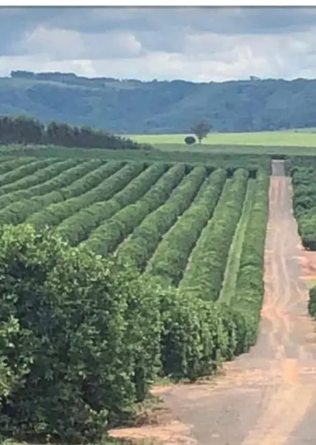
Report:
[[[29,225],[1,228],[0,277],[3,435],[88,442],[133,418],[159,366],[150,283]]]

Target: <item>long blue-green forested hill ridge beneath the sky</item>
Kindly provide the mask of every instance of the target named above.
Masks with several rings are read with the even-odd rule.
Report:
[[[0,78],[0,114],[117,133],[183,133],[199,119],[215,131],[315,127],[316,79],[195,84],[14,71]]]

